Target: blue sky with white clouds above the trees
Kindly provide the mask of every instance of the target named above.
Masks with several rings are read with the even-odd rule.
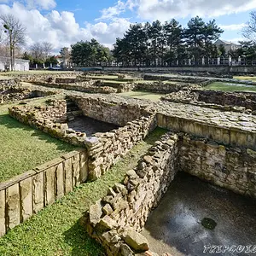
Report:
[[[134,22],[195,15],[217,20],[222,38],[237,42],[256,9],[256,0],[0,0],[0,14],[13,14],[26,26],[26,42],[49,41],[57,52],[79,40],[96,38],[111,46]]]

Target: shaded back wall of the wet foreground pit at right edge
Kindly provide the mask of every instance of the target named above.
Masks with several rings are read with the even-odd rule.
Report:
[[[178,169],[241,195],[256,198],[256,152],[182,137]]]

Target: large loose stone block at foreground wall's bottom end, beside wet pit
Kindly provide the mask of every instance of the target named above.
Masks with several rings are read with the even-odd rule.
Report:
[[[136,251],[148,251],[148,240],[135,230],[129,230],[125,242]]]

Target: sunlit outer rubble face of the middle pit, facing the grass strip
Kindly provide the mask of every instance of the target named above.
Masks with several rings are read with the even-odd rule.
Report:
[[[117,130],[87,138],[85,144],[89,154],[90,180],[96,180],[108,172],[117,160],[143,140],[155,127],[156,119],[153,113],[128,122]]]

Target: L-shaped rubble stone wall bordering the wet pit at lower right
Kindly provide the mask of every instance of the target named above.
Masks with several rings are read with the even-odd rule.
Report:
[[[256,152],[224,147],[182,133],[166,134],[126,173],[123,183],[84,215],[84,227],[108,255],[156,255],[139,234],[178,171],[256,198]],[[139,254],[141,253],[141,254]]]

